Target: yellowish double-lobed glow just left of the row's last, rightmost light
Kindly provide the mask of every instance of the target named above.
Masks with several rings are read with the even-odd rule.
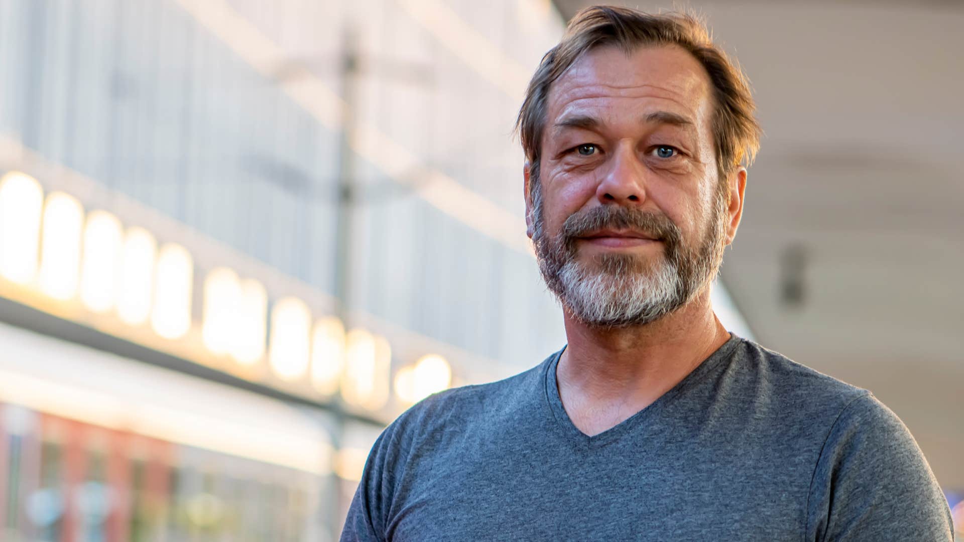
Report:
[[[391,347],[388,340],[363,329],[348,333],[341,396],[345,402],[378,410],[388,401]]]

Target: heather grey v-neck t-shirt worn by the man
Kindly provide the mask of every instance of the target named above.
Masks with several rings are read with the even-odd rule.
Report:
[[[952,540],[921,449],[865,390],[732,337],[589,437],[559,354],[395,420],[341,540]]]

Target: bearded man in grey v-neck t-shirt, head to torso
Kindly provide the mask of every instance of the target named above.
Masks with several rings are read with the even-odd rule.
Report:
[[[951,540],[890,410],[710,308],[753,111],[694,19],[576,15],[519,116],[528,234],[568,345],[392,423],[342,540]]]

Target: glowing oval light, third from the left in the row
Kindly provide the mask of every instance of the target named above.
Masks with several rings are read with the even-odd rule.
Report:
[[[80,273],[80,299],[94,312],[107,312],[117,298],[120,271],[120,220],[107,211],[87,216],[84,259]]]

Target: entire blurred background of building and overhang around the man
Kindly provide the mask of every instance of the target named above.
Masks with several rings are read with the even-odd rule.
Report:
[[[336,539],[390,420],[562,347],[513,122],[589,4],[0,0],[0,538]],[[717,312],[964,529],[964,5],[690,7],[766,133]]]

